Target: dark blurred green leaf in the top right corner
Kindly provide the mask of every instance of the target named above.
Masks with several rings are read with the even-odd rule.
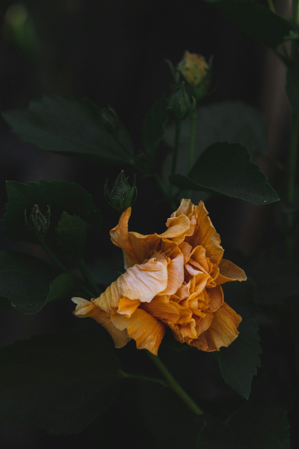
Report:
[[[225,13],[245,33],[270,48],[283,42],[294,26],[255,0],[204,0]]]

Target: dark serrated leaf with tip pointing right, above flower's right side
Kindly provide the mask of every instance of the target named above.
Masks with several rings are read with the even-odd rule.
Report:
[[[209,146],[189,176],[174,174],[170,181],[181,189],[204,190],[256,205],[279,200],[260,167],[251,163],[247,148],[237,143],[217,142]]]

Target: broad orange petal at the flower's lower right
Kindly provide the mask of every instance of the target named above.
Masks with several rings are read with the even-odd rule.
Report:
[[[201,351],[219,351],[228,347],[238,337],[238,325],[242,318],[230,306],[223,303],[215,313],[211,326],[190,344]]]

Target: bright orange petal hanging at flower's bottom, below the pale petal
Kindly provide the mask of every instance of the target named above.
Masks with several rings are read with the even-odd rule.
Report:
[[[112,314],[111,321],[117,329],[127,330],[129,337],[135,340],[137,349],[147,349],[157,355],[165,334],[165,326],[161,321],[139,308],[130,318],[118,313]]]

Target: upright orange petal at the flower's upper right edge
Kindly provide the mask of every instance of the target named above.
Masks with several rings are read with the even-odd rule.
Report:
[[[212,225],[210,218],[208,217],[208,211],[204,207],[202,201],[196,206],[197,212],[197,225],[198,229],[193,235],[193,247],[201,245],[206,250],[206,256],[213,264],[219,264],[223,255],[223,248],[221,247],[221,240],[216,229]],[[189,240],[187,240],[188,243]]]

